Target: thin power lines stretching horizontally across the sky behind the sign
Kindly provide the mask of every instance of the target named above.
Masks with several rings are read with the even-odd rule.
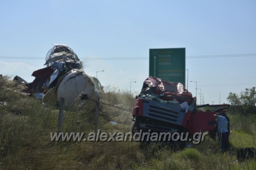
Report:
[[[186,59],[196,58],[225,58],[225,57],[255,57],[256,53],[247,54],[230,54],[230,55],[205,55],[205,56],[186,56]],[[31,60],[44,60],[45,57],[21,57],[21,56],[0,56],[6,59],[31,59]],[[149,57],[81,57],[80,59],[87,60],[149,60]]]

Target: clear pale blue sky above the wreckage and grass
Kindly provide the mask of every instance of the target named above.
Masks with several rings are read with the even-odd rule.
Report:
[[[148,57],[149,48],[186,48],[187,56],[256,53],[256,1],[1,1],[0,56],[45,57],[53,43],[80,57]],[[32,81],[44,60],[0,58],[0,74]],[[103,86],[138,94],[148,60],[86,60]],[[188,58],[189,81],[204,101],[256,86],[256,56]],[[189,82],[195,95],[195,83]],[[198,90],[199,91],[199,90]],[[199,92],[198,92],[199,93]],[[198,95],[199,96],[199,95]]]

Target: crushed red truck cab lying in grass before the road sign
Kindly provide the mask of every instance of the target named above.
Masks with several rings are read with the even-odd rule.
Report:
[[[202,111],[203,107],[212,111]],[[228,104],[197,106],[196,98],[181,83],[149,77],[144,81],[133,108],[132,132],[214,133],[216,122],[213,115],[228,107]]]

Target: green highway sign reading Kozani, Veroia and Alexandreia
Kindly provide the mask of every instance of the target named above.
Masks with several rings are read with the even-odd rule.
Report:
[[[185,48],[149,49],[149,76],[185,87]]]

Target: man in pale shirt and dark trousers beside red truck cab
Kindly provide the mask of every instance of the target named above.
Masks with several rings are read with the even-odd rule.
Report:
[[[227,151],[229,149],[228,141],[228,121],[225,117],[215,114],[214,117],[218,122],[218,139],[221,151]]]

